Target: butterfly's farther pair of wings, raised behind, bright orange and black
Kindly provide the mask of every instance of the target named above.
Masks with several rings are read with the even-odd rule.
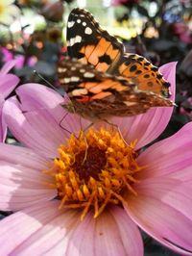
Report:
[[[93,15],[83,9],[74,9],[69,15],[67,45],[68,55],[84,64],[93,64],[103,72],[132,79],[139,90],[170,96],[170,84],[158,68],[144,57],[124,53],[123,44],[103,30]]]

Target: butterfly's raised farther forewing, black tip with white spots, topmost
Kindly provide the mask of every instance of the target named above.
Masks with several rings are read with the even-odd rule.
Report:
[[[68,17],[67,51],[71,58],[109,73],[123,55],[124,46],[103,30],[91,13],[76,8]]]

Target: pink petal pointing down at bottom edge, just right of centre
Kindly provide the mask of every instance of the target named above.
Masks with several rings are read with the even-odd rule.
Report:
[[[95,250],[96,250],[96,255],[107,255],[107,256],[126,256],[126,255],[134,255],[131,254],[131,252],[135,252],[135,255],[139,255],[138,252],[142,251],[142,242],[139,239],[139,235],[137,233],[137,230],[132,223],[132,221],[127,218],[127,221],[125,221],[125,214],[126,213],[121,213],[124,215],[124,219],[122,219],[122,223],[120,224],[120,216],[117,217],[118,213],[120,211],[114,211],[113,216],[109,214],[107,211],[100,217],[96,219],[95,223]],[[115,216],[115,218],[114,218]],[[114,219],[116,221],[114,221]],[[122,228],[122,224],[125,224],[126,230]],[[129,223],[131,226],[129,226]],[[119,228],[120,225],[120,228]],[[132,233],[135,232],[136,234],[136,240],[134,243],[138,242],[138,248],[136,249],[136,245],[133,244],[132,247],[130,247],[130,243],[126,244],[127,239],[121,237],[122,232],[126,232],[126,236],[131,236]],[[128,233],[130,235],[128,235]]]

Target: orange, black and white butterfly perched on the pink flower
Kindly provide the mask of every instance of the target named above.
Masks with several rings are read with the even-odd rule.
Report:
[[[74,9],[67,22],[67,53],[58,66],[69,112],[89,119],[130,116],[152,107],[170,107],[170,84],[142,56],[126,53],[93,15]]]

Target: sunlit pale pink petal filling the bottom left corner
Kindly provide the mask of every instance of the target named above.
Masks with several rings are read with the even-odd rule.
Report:
[[[80,212],[62,211],[58,207],[58,201],[44,202],[3,219],[1,255],[37,256],[51,250],[51,255],[66,255],[71,233],[80,222]]]

